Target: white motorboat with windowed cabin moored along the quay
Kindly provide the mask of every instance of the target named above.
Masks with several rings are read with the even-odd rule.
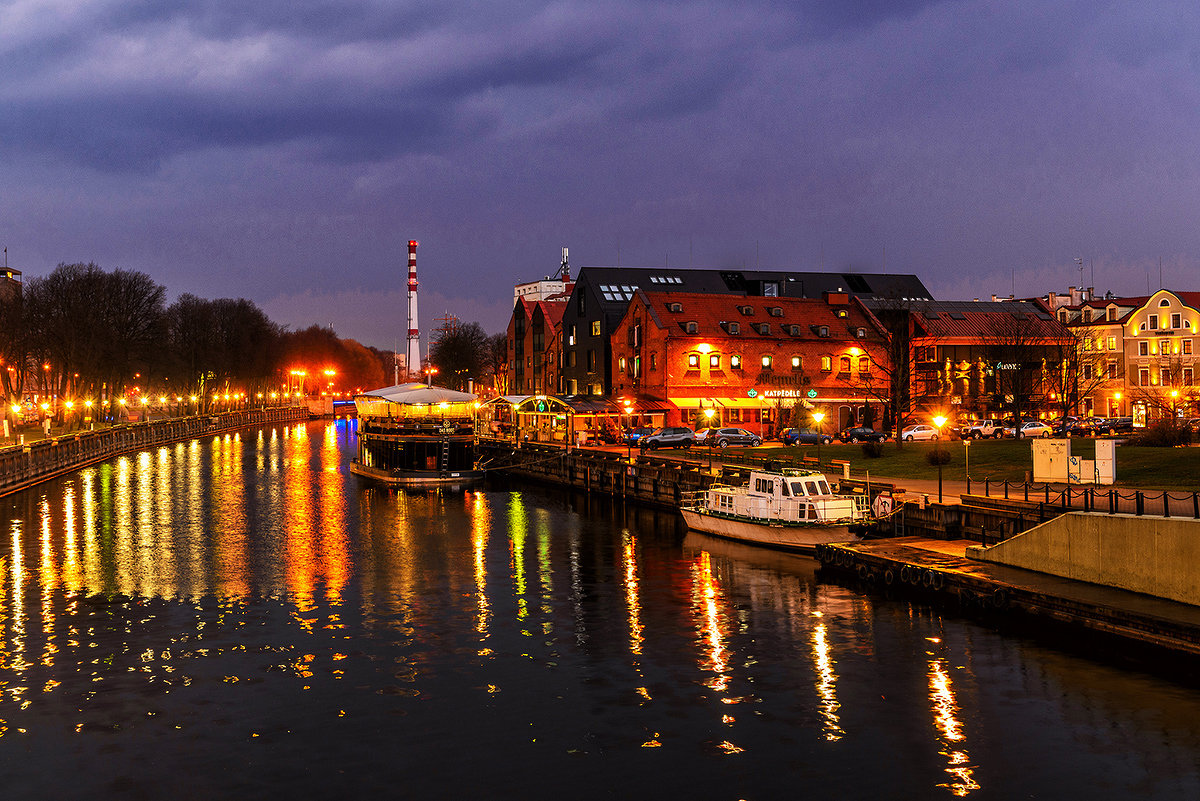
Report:
[[[865,494],[834,493],[816,470],[755,470],[745,487],[714,484],[679,511],[695,531],[804,552],[852,542],[851,529],[871,520]]]

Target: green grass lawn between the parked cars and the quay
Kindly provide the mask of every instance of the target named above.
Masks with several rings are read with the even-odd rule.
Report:
[[[942,466],[947,481],[966,478],[967,445],[961,440],[941,442],[950,451],[950,462]],[[869,458],[862,445],[821,446],[821,464],[828,469],[830,459],[845,459],[854,472],[869,470],[875,476],[936,478],[937,466],[925,460],[935,442],[883,444],[883,454]],[[702,452],[702,451],[701,451]],[[694,452],[695,453],[695,452]],[[1070,454],[1094,458],[1096,441],[1073,439]],[[775,459],[785,466],[803,466],[802,458],[817,456],[815,445],[728,448],[725,456]],[[971,481],[1025,480],[1025,471],[1033,470],[1032,445],[1028,440],[976,440],[970,445]],[[1133,447],[1117,446],[1117,484],[1147,489],[1200,489],[1200,448],[1198,447]]]

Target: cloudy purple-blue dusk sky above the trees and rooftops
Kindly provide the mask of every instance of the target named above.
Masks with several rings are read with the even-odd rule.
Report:
[[[1200,289],[1200,6],[0,0],[0,245],[403,347],[588,265]],[[1079,261],[1076,261],[1079,260]],[[1082,265],[1082,270],[1080,270]]]

